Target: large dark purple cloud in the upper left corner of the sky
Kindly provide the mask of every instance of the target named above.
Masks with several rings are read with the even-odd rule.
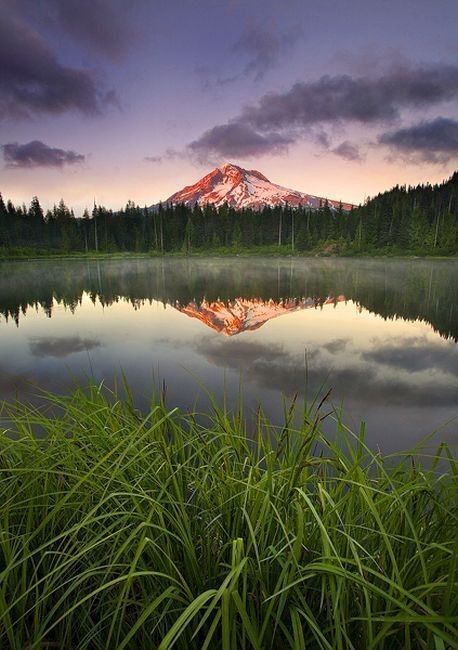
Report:
[[[112,97],[92,76],[62,65],[34,29],[0,10],[0,119],[78,110],[96,114]]]

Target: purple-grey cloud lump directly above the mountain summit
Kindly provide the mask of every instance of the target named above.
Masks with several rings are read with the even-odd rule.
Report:
[[[198,159],[206,161],[209,157],[249,158],[267,153],[283,153],[293,140],[279,133],[257,133],[246,124],[229,122],[212,129],[191,142],[187,149]]]

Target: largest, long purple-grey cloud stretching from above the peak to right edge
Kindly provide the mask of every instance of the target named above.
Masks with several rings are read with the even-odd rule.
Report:
[[[329,139],[324,131],[317,136],[316,127],[379,125],[398,119],[403,109],[427,109],[456,97],[458,66],[454,65],[402,66],[375,78],[326,75],[295,83],[286,92],[264,95],[226,124],[206,131],[188,149],[201,156],[259,156],[284,152],[305,135],[318,138],[326,147]],[[361,158],[348,141],[330,151],[347,160]]]

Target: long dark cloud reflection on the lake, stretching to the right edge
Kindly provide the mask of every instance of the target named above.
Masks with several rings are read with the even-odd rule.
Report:
[[[365,359],[363,355],[354,354],[351,361],[347,359],[346,365],[336,367],[330,366],[329,356],[321,355],[319,350],[307,350],[309,397],[319,388],[327,390],[332,387],[335,398],[371,407],[390,404],[417,409],[456,404],[456,386],[450,377],[441,378],[436,374],[422,376],[414,382],[399,375],[397,371],[405,369],[402,364],[387,374],[389,364],[383,362],[385,347],[379,345],[380,357]],[[438,346],[432,347],[439,349]],[[281,346],[262,343],[251,346],[248,341],[214,338],[199,342],[196,349],[216,366],[237,372],[243,370],[244,377],[262,388],[286,395],[304,393],[304,357],[293,356]],[[421,355],[422,350],[418,350],[418,354]],[[408,365],[410,359],[406,362]]]

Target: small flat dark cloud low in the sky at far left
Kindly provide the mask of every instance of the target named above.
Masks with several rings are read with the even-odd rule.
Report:
[[[40,140],[26,144],[10,142],[2,145],[7,167],[63,167],[84,162],[85,157],[75,151],[48,147]]]

